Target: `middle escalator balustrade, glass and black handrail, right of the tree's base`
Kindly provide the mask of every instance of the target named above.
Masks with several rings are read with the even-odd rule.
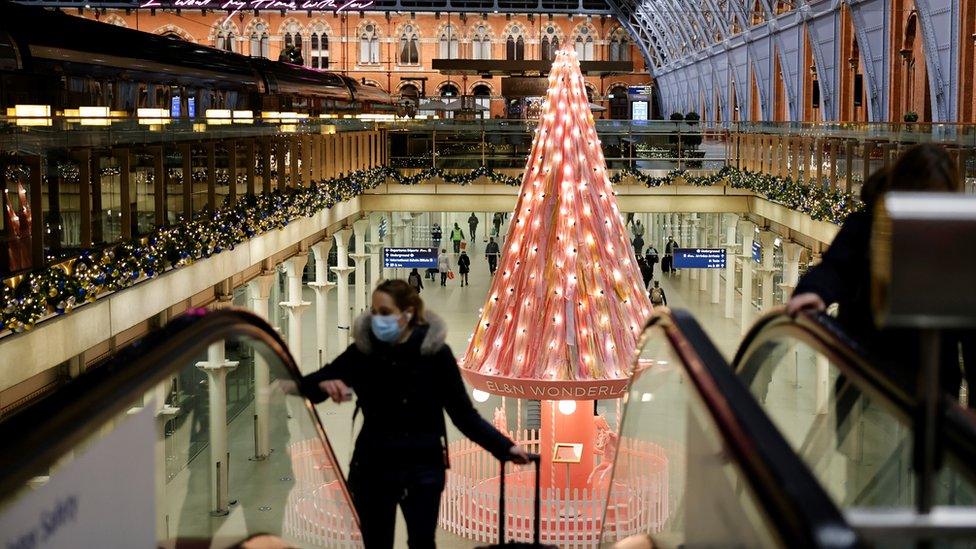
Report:
[[[655,547],[853,545],[829,499],[689,322],[659,317],[642,338],[611,441],[604,543],[649,535]],[[806,496],[779,491],[780,477]]]

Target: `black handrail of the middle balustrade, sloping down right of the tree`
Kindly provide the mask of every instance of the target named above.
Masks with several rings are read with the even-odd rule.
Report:
[[[806,464],[687,311],[659,312],[638,348],[663,330],[694,384],[729,457],[787,547],[857,547],[857,535]],[[631,384],[648,370],[637,371]],[[626,421],[626,416],[624,417]]]

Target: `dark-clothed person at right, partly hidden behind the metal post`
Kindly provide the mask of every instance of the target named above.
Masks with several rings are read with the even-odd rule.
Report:
[[[838,305],[837,322],[853,340],[875,357],[889,363],[895,380],[914,387],[918,365],[918,338],[913,330],[879,330],[871,307],[871,225],[878,201],[888,191],[959,192],[955,162],[937,145],[916,145],[905,151],[889,172],[879,170],[861,187],[864,209],[847,216],[822,261],[800,278],[786,304],[790,315],[801,311],[823,312]],[[933,272],[938,276],[938,272]],[[966,377],[976,387],[976,357],[972,333],[952,332],[943,339],[942,380],[946,391],[958,396],[961,382],[959,344],[962,344]],[[969,360],[966,360],[969,359]],[[970,399],[973,402],[974,399]]]

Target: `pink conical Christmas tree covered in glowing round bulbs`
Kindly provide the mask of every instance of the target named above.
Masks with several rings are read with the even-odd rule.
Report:
[[[503,381],[578,390],[581,383],[623,380],[650,314],[579,61],[574,51],[561,50],[501,264],[463,368],[475,387],[499,394],[513,394],[498,390]],[[553,400],[557,393],[534,395],[540,396]],[[557,398],[563,396],[611,395],[583,391]]]

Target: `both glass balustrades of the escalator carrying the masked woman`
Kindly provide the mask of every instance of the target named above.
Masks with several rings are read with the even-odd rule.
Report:
[[[694,319],[657,316],[641,345],[619,438],[604,441],[614,466],[597,479],[610,489],[595,539],[858,544]],[[281,338],[240,311],[190,313],[120,351],[0,423],[5,545],[231,547],[263,532],[361,546],[318,415],[281,390],[298,375]]]

